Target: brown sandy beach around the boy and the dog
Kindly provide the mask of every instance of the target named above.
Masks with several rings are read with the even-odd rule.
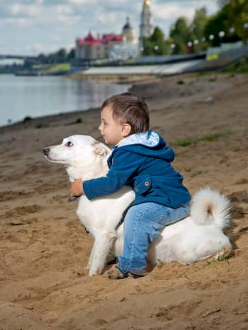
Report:
[[[137,280],[108,280],[113,266],[88,277],[92,238],[77,202],[67,202],[64,168],[42,151],[75,133],[101,140],[99,110],[1,128],[1,330],[248,329],[248,75],[154,79],[133,91],[174,147],[190,192],[208,186],[230,197],[233,255],[157,265]]]

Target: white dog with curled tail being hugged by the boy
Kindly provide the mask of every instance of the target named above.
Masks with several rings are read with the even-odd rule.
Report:
[[[91,136],[75,135],[43,152],[50,162],[65,165],[73,181],[106,175],[106,160],[111,150]],[[77,215],[95,238],[87,265],[89,276],[103,273],[109,253],[116,256],[122,253],[123,224],[120,221],[134,199],[135,193],[128,186],[91,201],[85,195],[79,198]],[[229,238],[222,232],[229,223],[228,200],[212,189],[201,189],[193,196],[191,216],[162,229],[150,245],[147,261],[152,264],[177,261],[186,265],[211,255],[218,257],[231,249]]]

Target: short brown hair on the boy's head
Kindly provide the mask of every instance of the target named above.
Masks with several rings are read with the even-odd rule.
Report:
[[[129,123],[130,134],[148,131],[150,125],[147,104],[141,97],[133,93],[113,95],[103,102],[101,110],[105,106],[113,106],[113,119],[119,119],[121,123]]]

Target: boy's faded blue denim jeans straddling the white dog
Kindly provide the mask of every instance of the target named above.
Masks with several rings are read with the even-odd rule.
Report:
[[[124,220],[124,249],[116,267],[123,273],[147,273],[148,246],[159,230],[188,216],[189,203],[176,209],[147,202],[130,207]]]

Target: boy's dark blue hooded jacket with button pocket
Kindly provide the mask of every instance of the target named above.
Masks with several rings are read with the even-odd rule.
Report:
[[[124,185],[135,191],[132,205],[154,202],[179,207],[191,199],[183,177],[171,166],[174,151],[155,131],[135,133],[116,145],[108,158],[106,177],[86,180],[88,199],[113,194]]]

